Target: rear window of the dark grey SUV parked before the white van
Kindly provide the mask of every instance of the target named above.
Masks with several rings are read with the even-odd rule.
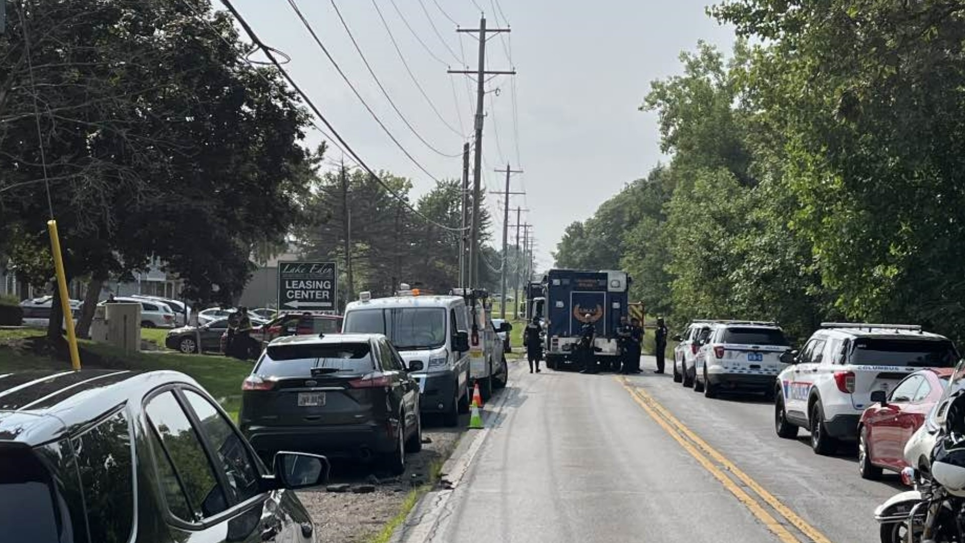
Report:
[[[259,375],[298,377],[312,368],[329,368],[332,373],[366,374],[375,369],[368,341],[269,345],[265,354],[255,368]]]

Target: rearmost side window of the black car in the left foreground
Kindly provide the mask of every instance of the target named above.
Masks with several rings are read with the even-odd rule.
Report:
[[[124,411],[71,440],[91,541],[126,543],[134,523],[133,453]]]

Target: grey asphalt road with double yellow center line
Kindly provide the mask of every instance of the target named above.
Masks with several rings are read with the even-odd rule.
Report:
[[[424,502],[425,540],[874,543],[874,507],[903,490],[861,479],[853,451],[778,438],[762,398],[704,398],[652,358],[625,381],[524,364],[455,489]]]

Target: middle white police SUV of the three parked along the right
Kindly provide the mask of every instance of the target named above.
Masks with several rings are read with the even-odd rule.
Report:
[[[781,355],[790,350],[784,330],[775,323],[720,321],[700,342],[695,358],[694,390],[712,398],[722,389],[774,393],[778,374],[787,367]]]

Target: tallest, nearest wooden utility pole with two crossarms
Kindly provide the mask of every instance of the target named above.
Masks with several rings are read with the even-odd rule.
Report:
[[[469,286],[475,287],[479,282],[479,240],[480,240],[480,186],[483,176],[483,98],[485,97],[485,76],[486,75],[515,75],[516,71],[487,71],[485,69],[485,43],[489,33],[509,32],[509,28],[490,28],[485,27],[485,17],[480,17],[479,28],[457,28],[456,32],[478,32],[480,43],[479,66],[475,71],[469,70],[450,70],[449,73],[463,73],[476,76],[476,149],[474,150],[475,163],[473,164],[473,220],[472,231],[469,242]]]

